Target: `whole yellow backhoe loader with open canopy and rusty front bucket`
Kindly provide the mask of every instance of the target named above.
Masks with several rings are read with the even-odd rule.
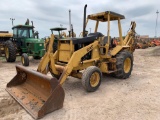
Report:
[[[123,15],[105,11],[88,15],[86,19],[86,7],[83,37],[59,39],[58,49],[53,53],[54,35],[51,34],[48,51],[37,71],[17,65],[17,75],[7,84],[8,93],[35,119],[63,106],[65,94],[62,85],[68,76],[80,78],[84,89],[94,92],[101,84],[102,73],[121,79],[131,75],[136,23],[131,22],[130,31],[123,39],[120,23],[125,18]],[[95,31],[85,36],[89,20],[96,21]],[[110,36],[111,21],[118,21],[120,43],[116,47],[112,46]],[[99,22],[107,22],[107,36],[97,32]],[[46,75],[48,72],[53,78]]]

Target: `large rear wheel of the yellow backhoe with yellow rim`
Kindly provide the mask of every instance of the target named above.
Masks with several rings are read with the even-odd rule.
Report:
[[[133,55],[128,51],[122,51],[116,55],[116,59],[117,72],[114,76],[120,79],[128,78],[133,68]]]

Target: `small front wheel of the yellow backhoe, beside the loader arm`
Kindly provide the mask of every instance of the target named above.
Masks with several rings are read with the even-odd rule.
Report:
[[[101,84],[102,73],[98,67],[88,67],[82,75],[82,86],[88,92],[94,92]]]

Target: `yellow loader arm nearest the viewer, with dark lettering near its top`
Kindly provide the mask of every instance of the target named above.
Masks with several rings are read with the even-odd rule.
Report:
[[[66,78],[70,75],[74,67],[77,67],[79,63],[81,62],[81,58],[86,55],[88,52],[93,50],[95,47],[98,46],[99,41],[95,41],[92,44],[89,44],[86,47],[83,47],[82,49],[76,51],[73,53],[70,61],[68,62],[67,66],[65,67],[61,77],[59,78],[60,84],[62,85]]]

